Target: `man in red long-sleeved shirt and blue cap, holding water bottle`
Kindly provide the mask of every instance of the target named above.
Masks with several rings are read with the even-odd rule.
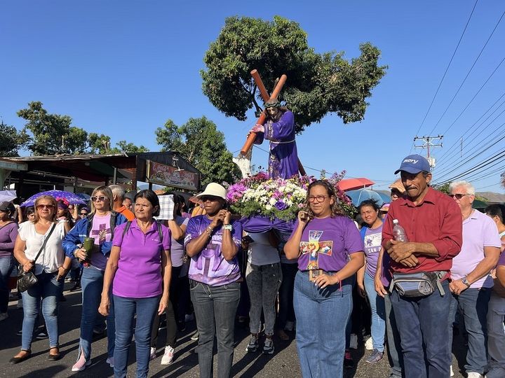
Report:
[[[405,377],[447,378],[452,362],[447,342],[450,329],[449,290],[452,258],[462,246],[462,217],[448,195],[429,187],[428,160],[409,155],[395,172],[400,172],[405,197],[391,203],[382,229],[382,246],[391,257],[395,273],[438,272],[440,288],[429,295],[405,297],[396,286],[391,304],[400,332]],[[393,220],[405,229],[408,241],[393,237]],[[443,291],[443,293],[441,292]]]

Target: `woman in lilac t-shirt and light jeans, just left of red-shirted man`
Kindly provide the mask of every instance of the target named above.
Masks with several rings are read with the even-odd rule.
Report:
[[[382,219],[379,217],[379,205],[374,200],[361,202],[358,211],[366,223],[361,229],[363,246],[365,247],[365,266],[358,270],[358,292],[368,296],[372,310],[372,353],[366,362],[377,363],[384,356],[384,334],[386,333],[386,308],[384,297],[375,291],[375,273],[377,261],[382,249]]]

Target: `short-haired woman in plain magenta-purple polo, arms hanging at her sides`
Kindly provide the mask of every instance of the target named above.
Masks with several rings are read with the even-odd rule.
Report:
[[[136,218],[114,231],[98,308],[103,316],[109,314],[112,286],[116,320],[114,377],[121,378],[126,377],[135,315],[136,377],[147,377],[154,314],[162,314],[168,305],[172,269],[170,230],[153,218],[159,215],[158,196],[152,190],[141,190],[135,195],[134,209]]]

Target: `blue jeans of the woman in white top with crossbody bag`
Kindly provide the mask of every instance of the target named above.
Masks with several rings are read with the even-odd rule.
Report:
[[[23,323],[21,349],[29,351],[32,347],[32,335],[42,300],[42,315],[46,321],[49,335],[49,347],[58,346],[58,301],[64,279],[57,280],[58,272],[37,274],[37,283],[22,293]]]

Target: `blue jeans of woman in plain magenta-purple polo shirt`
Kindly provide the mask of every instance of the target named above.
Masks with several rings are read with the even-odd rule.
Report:
[[[116,309],[116,349],[114,350],[114,377],[126,377],[128,349],[135,328],[135,354],[137,356],[137,378],[147,377],[151,354],[151,328],[154,314],[158,310],[161,295],[149,298],[126,298],[114,295]],[[137,315],[134,324],[133,319]]]

